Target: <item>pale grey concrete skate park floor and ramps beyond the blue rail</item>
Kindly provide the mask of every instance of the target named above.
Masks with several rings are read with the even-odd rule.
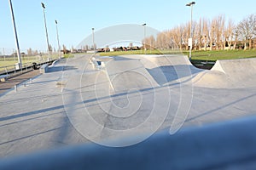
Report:
[[[96,70],[91,57],[61,60],[17,93],[0,97],[0,156],[89,139],[110,146],[137,144],[161,129],[176,133],[182,126],[256,112],[253,70],[248,75],[232,71],[228,61],[219,62],[223,71],[203,71],[180,55],[96,57],[105,64]],[[233,76],[236,83],[226,81]],[[239,82],[240,76],[250,79]],[[134,135],[139,138],[116,142]]]

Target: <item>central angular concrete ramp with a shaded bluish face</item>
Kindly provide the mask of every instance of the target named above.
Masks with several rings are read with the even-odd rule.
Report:
[[[184,55],[125,55],[106,62],[106,71],[115,91],[154,88],[187,82],[203,71]]]

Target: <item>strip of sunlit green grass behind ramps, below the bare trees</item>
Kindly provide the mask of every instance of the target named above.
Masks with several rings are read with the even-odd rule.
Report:
[[[136,51],[117,51],[100,53],[101,56],[114,56],[125,54],[144,54],[144,50]],[[189,51],[159,51],[159,50],[147,50],[146,54],[184,54],[189,56]],[[213,60],[218,59],[245,59],[256,58],[256,50],[218,50],[218,51],[193,51],[191,59],[198,60]]]

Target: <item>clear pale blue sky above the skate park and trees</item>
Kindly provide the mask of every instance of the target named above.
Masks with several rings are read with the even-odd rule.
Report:
[[[49,43],[57,48],[55,20],[58,20],[61,45],[76,47],[91,28],[97,30],[119,24],[143,24],[165,31],[190,20],[189,0],[12,0],[20,49],[46,51],[44,15],[45,4]],[[239,22],[249,14],[256,14],[256,1],[195,0],[194,20],[212,19],[225,14],[226,20]],[[9,0],[0,0],[0,53],[15,48]]]

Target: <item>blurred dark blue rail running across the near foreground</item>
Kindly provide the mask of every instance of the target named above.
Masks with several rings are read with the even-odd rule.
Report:
[[[256,116],[250,116],[189,127],[174,135],[162,131],[123,148],[68,146],[0,160],[0,169],[255,169],[255,123]]]

